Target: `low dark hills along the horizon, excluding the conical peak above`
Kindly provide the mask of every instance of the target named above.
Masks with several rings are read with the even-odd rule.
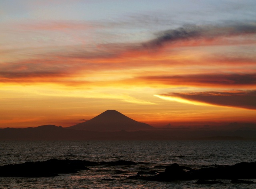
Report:
[[[113,132],[74,130],[46,125],[0,129],[0,140],[256,140],[256,130],[179,128]]]

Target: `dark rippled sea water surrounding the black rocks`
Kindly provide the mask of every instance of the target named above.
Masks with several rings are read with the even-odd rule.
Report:
[[[81,159],[88,161],[128,160],[138,165],[88,166],[90,170],[59,174],[58,177],[0,177],[0,189],[82,189],[82,188],[256,188],[256,184],[199,185],[189,181],[144,181],[127,179],[138,171],[164,171],[158,165],[178,163],[193,168],[234,165],[256,161],[256,141],[0,141],[0,165]],[[102,180],[107,179],[107,180]],[[256,182],[256,179],[250,179]]]

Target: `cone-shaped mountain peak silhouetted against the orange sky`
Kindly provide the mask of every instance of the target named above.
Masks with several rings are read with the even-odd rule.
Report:
[[[91,131],[129,131],[154,129],[154,127],[128,118],[116,110],[106,110],[105,112],[86,122],[82,122],[68,128]]]

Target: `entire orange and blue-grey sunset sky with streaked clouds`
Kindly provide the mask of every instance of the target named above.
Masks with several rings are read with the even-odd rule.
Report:
[[[256,122],[255,0],[0,0],[0,128],[108,110]]]

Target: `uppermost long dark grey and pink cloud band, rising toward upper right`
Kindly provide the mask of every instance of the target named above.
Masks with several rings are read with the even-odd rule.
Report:
[[[155,34],[154,39],[140,43],[107,43],[97,45],[93,52],[80,49],[67,53],[64,57],[83,59],[120,59],[152,56],[162,53],[163,48],[191,47],[204,45],[234,45],[256,43],[256,22],[237,22],[234,24],[188,25],[174,30]],[[249,39],[247,38],[248,36]],[[233,38],[239,37],[239,40]]]

